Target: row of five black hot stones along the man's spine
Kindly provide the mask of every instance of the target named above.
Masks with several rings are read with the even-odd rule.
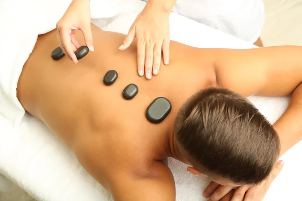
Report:
[[[84,58],[89,52],[87,46],[81,46],[77,51],[74,52],[77,59]],[[54,60],[59,60],[64,56],[64,52],[60,47],[55,48],[51,53],[51,58]],[[109,70],[106,72],[103,78],[105,85],[112,85],[118,78],[118,73],[116,70]],[[126,100],[133,99],[138,93],[138,87],[136,84],[128,84],[122,91],[122,96]],[[172,105],[170,100],[165,97],[157,97],[146,109],[146,118],[152,123],[161,123],[171,112]]]

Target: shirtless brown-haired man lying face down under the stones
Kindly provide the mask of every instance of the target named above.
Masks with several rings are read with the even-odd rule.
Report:
[[[56,31],[40,35],[17,96],[115,200],[175,200],[168,157],[230,189],[258,184],[300,140],[301,47],[200,49],[171,42],[170,64],[146,80],[137,74],[135,44],[120,51],[124,35],[93,25],[92,33],[95,51],[78,64],[51,58]],[[118,77],[106,85],[109,70]],[[126,99],[131,83],[138,93]],[[244,97],[252,94],[292,94],[274,128]],[[157,97],[167,98],[172,110],[152,123],[146,110]]]

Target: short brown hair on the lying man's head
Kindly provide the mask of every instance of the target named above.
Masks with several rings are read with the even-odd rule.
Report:
[[[178,112],[174,133],[195,168],[240,184],[263,181],[280,152],[272,125],[246,97],[225,88],[190,97]]]

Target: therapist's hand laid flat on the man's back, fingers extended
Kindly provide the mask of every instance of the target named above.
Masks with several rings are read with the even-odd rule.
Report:
[[[162,50],[164,63],[169,64],[169,13],[159,12],[149,4],[137,16],[120,50],[127,49],[134,38],[137,42],[137,70],[147,79],[160,70]]]

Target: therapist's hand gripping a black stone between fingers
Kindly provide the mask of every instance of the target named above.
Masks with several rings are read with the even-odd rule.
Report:
[[[90,51],[94,51],[89,4],[90,0],[73,0],[63,17],[56,24],[60,47],[74,63],[78,63],[74,51],[80,47],[74,35],[75,30],[82,31],[86,46]]]

